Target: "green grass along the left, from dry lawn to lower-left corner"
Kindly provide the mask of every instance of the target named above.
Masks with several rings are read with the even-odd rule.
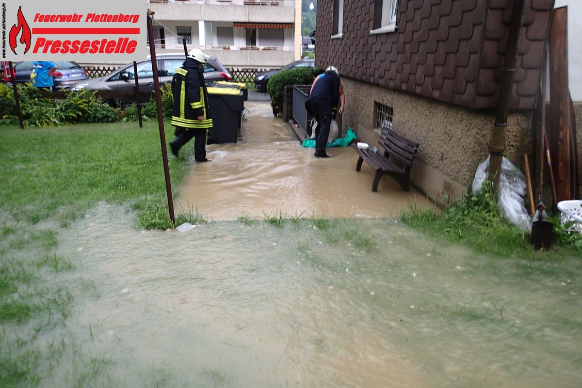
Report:
[[[173,127],[166,123],[165,130],[168,142]],[[65,327],[73,301],[69,285],[55,281],[74,268],[56,252],[58,228],[69,227],[101,201],[129,204],[137,211],[139,228],[174,225],[157,122],[144,122],[143,128],[137,123],[0,126],[0,154],[0,329],[5,332],[0,333],[0,387],[34,387],[52,372],[53,364],[40,360],[58,360],[63,351],[61,346],[41,352],[38,336]],[[177,196],[189,163],[170,157],[168,165]],[[195,207],[177,210],[176,224],[205,221]],[[44,220],[49,223],[39,224]],[[81,288],[99,297],[93,282]],[[92,386],[107,378],[110,368],[108,360],[83,360],[70,382]]]

